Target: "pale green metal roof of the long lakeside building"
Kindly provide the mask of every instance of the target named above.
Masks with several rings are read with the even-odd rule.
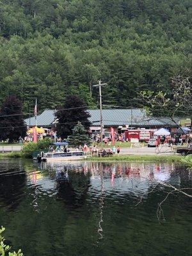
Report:
[[[88,109],[90,113],[90,122],[93,126],[100,125],[100,110],[99,109]],[[56,120],[56,110],[46,109],[42,114],[37,116],[37,126],[48,127],[52,126]],[[129,125],[132,127],[143,127],[143,126],[170,126],[175,127],[175,123],[169,118],[156,118],[147,116],[144,109],[103,109],[102,110],[103,124],[106,127],[118,127],[120,125]],[[36,124],[35,116],[25,120],[26,124],[33,126]],[[179,122],[179,120],[176,120]]]

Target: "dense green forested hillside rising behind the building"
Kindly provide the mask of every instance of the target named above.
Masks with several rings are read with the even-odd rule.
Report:
[[[66,95],[98,106],[140,107],[141,90],[167,90],[192,67],[191,0],[1,0],[0,99],[23,111]]]

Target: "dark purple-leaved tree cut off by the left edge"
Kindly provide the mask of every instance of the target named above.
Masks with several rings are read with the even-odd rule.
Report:
[[[26,135],[26,126],[22,115],[21,102],[15,96],[9,96],[0,110],[0,140],[9,142],[19,140]]]

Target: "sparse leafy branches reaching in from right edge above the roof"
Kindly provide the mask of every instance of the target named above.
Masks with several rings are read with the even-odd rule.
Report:
[[[188,73],[188,74],[187,74]],[[183,115],[192,115],[192,76],[191,71],[186,74],[172,77],[170,90],[154,92],[151,90],[140,93],[148,111],[156,116],[169,116],[170,118]]]

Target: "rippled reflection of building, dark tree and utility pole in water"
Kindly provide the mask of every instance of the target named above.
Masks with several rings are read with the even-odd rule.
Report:
[[[153,182],[172,179],[173,164],[166,163],[44,163],[42,170],[48,170],[49,178],[42,177],[36,184],[47,189],[47,179],[54,184],[56,200],[69,207],[82,207],[88,193],[97,195],[99,240],[104,237],[103,211],[106,197],[119,195],[148,195]],[[34,182],[35,173],[32,173]],[[46,181],[46,182],[45,182]],[[177,180],[177,184],[179,184]],[[49,184],[49,183],[48,183]]]

